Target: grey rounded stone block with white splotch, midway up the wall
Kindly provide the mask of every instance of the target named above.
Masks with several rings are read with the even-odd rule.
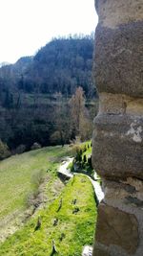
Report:
[[[98,115],[93,132],[92,165],[107,178],[143,179],[143,120],[130,115]]]

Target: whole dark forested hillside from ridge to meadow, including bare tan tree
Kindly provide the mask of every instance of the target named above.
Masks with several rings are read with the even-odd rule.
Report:
[[[0,68],[0,139],[10,150],[91,136],[96,109],[92,52],[92,36],[53,39],[34,57]]]

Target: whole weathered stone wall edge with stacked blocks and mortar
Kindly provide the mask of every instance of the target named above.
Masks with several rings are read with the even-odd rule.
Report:
[[[143,0],[96,0],[92,163],[103,179],[93,256],[143,255]]]

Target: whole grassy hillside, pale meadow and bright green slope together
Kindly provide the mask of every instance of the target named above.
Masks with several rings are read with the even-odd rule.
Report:
[[[4,220],[8,220],[8,216],[12,216],[15,221],[10,222],[9,229],[12,228],[11,224],[17,224],[17,215],[26,208],[24,198],[33,192],[31,177],[41,169],[46,180],[44,195],[47,199],[43,208],[36,211],[30,221],[0,245],[0,255],[51,256],[51,242],[54,240],[58,255],[79,256],[83,245],[92,244],[96,209],[89,178],[77,175],[64,186],[56,175],[61,157],[70,154],[70,151],[67,147],[50,147],[1,162],[1,182],[5,181],[0,195],[1,225],[5,223],[6,227]],[[62,205],[59,208],[61,198]],[[35,231],[38,216],[41,227]],[[0,230],[2,234],[4,227],[2,229],[1,226]]]

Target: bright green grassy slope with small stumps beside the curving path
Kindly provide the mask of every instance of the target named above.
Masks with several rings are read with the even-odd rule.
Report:
[[[60,199],[62,207],[57,212]],[[73,200],[76,199],[75,204]],[[79,210],[73,213],[74,210]],[[50,256],[54,240],[57,255],[80,256],[85,244],[92,244],[96,208],[92,184],[85,175],[76,175],[67,184],[59,198],[39,211],[42,224],[34,231],[37,215],[24,228],[0,246],[5,256]],[[57,219],[54,226],[53,221]]]

